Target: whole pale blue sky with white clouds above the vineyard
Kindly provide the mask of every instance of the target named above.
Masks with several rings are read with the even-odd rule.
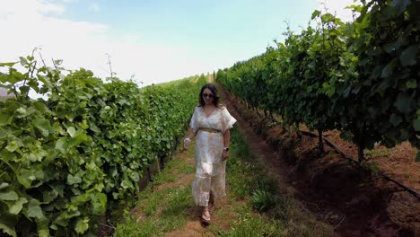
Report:
[[[301,31],[311,13],[349,21],[353,0],[0,0],[0,62],[33,48],[49,66],[62,59],[140,86],[213,73]],[[39,53],[36,54],[39,57]]]

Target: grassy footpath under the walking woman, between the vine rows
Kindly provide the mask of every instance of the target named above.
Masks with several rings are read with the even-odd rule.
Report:
[[[271,150],[258,146],[264,144],[258,136],[250,141],[243,130],[245,121],[235,117],[227,197],[216,199],[209,226],[200,224],[200,210],[190,194],[195,176],[193,140],[187,151],[179,148],[165,169],[153,176],[133,200],[135,206],[127,206],[113,236],[337,236],[335,226],[317,220],[295,201],[293,188],[280,180],[279,172],[267,170],[263,163]]]

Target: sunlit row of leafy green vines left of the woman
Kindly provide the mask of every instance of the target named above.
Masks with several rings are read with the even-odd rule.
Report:
[[[0,64],[13,95],[0,101],[0,229],[12,236],[96,235],[100,217],[135,198],[148,165],[175,149],[206,82],[140,89],[84,69],[64,75],[57,63],[21,57],[26,73]]]

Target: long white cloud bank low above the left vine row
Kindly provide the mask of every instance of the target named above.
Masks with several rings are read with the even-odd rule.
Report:
[[[42,48],[42,57],[49,65],[52,58],[63,59],[68,69],[84,67],[104,78],[109,76],[105,55],[109,53],[119,78],[127,80],[136,75],[135,79],[144,84],[215,69],[208,66],[216,61],[214,58],[203,57],[203,52],[191,48],[144,44],[141,36],[130,32],[118,36],[119,41],[109,40],[115,39],[109,26],[66,20],[57,15],[66,12],[60,4],[43,0],[8,2],[0,8],[0,31],[7,32],[0,44],[0,62],[17,61],[20,56],[30,55],[33,48]]]

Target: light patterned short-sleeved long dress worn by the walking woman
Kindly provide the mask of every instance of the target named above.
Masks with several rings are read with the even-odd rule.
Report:
[[[191,118],[191,128],[197,132],[196,142],[196,179],[192,195],[197,206],[208,206],[210,192],[215,198],[226,195],[225,168],[223,156],[223,133],[233,127],[236,119],[226,108],[215,109],[206,117],[202,107],[196,107]],[[209,132],[198,128],[210,128],[221,132]]]

